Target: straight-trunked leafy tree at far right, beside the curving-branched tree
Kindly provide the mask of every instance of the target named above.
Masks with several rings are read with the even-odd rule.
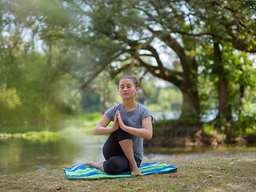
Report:
[[[229,61],[231,61],[232,55],[237,54],[237,52],[256,53],[256,22],[254,19],[256,2],[238,0],[186,2],[190,14],[200,23],[200,30],[197,33],[190,32],[190,35],[204,38],[203,44],[207,45],[205,47],[212,47],[214,50],[214,65],[211,73],[215,74],[218,79],[218,118],[225,118],[230,121],[232,113],[234,113],[231,109],[232,99],[230,99],[232,98],[232,95],[230,95],[232,80],[229,79],[232,71],[227,69],[234,70],[233,73],[239,77],[242,74],[236,73],[237,71],[242,72],[247,65],[252,66],[250,61],[248,62],[247,59],[242,57],[240,58],[244,63],[241,65],[234,65]],[[207,40],[209,43],[206,42]],[[230,48],[226,49],[226,46],[230,46]],[[223,57],[227,54],[230,55],[230,58]],[[230,65],[236,66],[236,68],[230,67]],[[245,81],[237,83],[240,84],[239,89],[242,98],[244,97],[244,89],[248,84]]]

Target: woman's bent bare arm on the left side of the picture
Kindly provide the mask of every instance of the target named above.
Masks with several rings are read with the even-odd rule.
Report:
[[[103,115],[100,122],[98,122],[98,125],[94,127],[93,134],[94,135],[102,135],[102,134],[110,134],[114,132],[115,130],[118,130],[118,118],[117,114],[114,117],[114,124],[113,126],[106,127],[110,124],[110,118],[106,116],[106,114]]]

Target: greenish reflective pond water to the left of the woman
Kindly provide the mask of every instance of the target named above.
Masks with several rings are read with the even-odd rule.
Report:
[[[75,141],[75,142],[74,142]],[[103,160],[102,139],[63,138],[57,141],[0,139],[0,174],[45,170]]]

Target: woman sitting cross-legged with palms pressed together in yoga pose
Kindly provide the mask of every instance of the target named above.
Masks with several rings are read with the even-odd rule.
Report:
[[[131,171],[132,176],[142,175],[138,167],[143,158],[143,138],[153,135],[152,114],[142,104],[136,102],[138,79],[125,76],[120,79],[119,94],[122,103],[106,110],[103,118],[94,128],[94,135],[110,134],[103,146],[104,162],[89,162],[92,166],[109,174]],[[113,126],[107,127],[113,121]]]

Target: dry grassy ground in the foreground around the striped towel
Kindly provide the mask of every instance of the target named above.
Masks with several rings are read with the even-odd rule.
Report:
[[[62,169],[0,176],[0,191],[256,191],[256,151],[182,158],[170,174],[94,181],[66,179]]]

